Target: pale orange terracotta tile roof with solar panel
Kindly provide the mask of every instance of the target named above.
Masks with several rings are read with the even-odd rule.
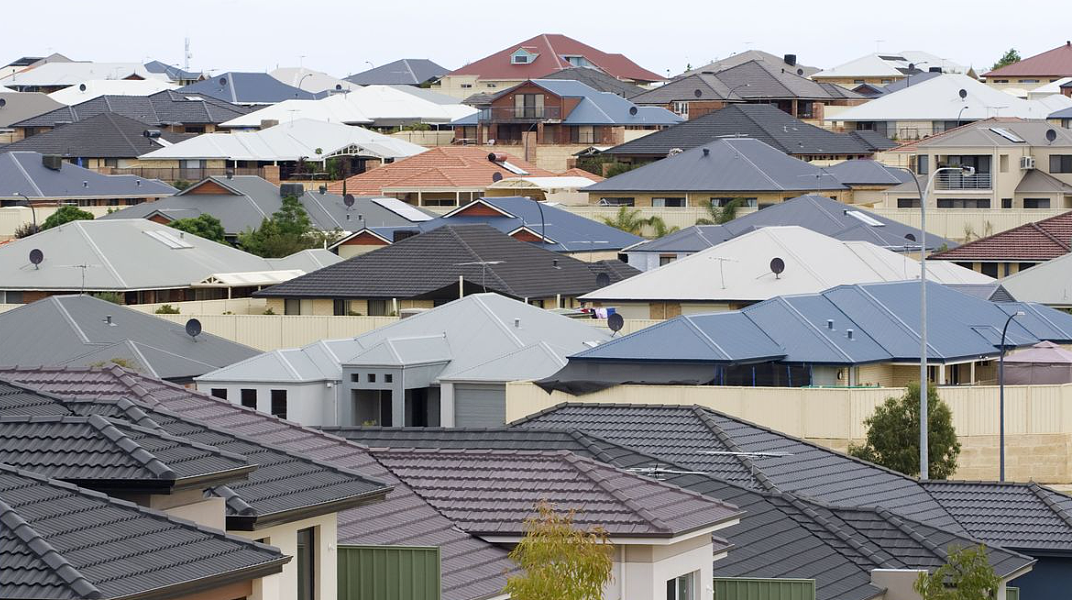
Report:
[[[482,189],[492,183],[496,172],[504,178],[518,177],[502,165],[488,160],[490,150],[476,146],[447,146],[432,148],[416,156],[410,156],[389,165],[355,175],[346,180],[346,192],[349,194],[383,194],[385,189],[420,189],[420,188],[465,188]],[[544,170],[517,156],[507,156],[507,162],[524,169],[532,177],[555,177],[555,174]],[[342,193],[342,182],[328,186],[332,193]]]

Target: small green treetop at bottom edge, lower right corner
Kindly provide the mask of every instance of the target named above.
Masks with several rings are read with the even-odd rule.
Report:
[[[986,546],[955,549],[934,573],[920,573],[912,587],[923,600],[994,598],[1001,578],[986,558]]]

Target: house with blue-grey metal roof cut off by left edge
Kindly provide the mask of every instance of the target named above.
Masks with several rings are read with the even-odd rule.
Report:
[[[36,205],[128,206],[151,202],[178,192],[155,179],[102,175],[63,161],[57,154],[0,152],[0,207]],[[42,220],[44,221],[44,220]]]

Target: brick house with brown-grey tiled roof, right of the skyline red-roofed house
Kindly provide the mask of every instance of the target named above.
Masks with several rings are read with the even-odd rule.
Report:
[[[632,98],[637,104],[661,106],[685,119],[747,103],[771,104],[791,117],[815,123],[822,122],[824,106],[853,106],[865,100],[851,90],[813,81],[762,60],[678,77]]]

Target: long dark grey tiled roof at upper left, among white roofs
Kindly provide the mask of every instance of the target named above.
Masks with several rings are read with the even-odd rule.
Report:
[[[229,121],[249,111],[250,108],[247,106],[217,100],[207,94],[164,90],[151,95],[102,95],[26,118],[15,126],[54,128],[64,122],[72,123],[95,117],[102,112],[113,112],[153,126],[204,125]]]

